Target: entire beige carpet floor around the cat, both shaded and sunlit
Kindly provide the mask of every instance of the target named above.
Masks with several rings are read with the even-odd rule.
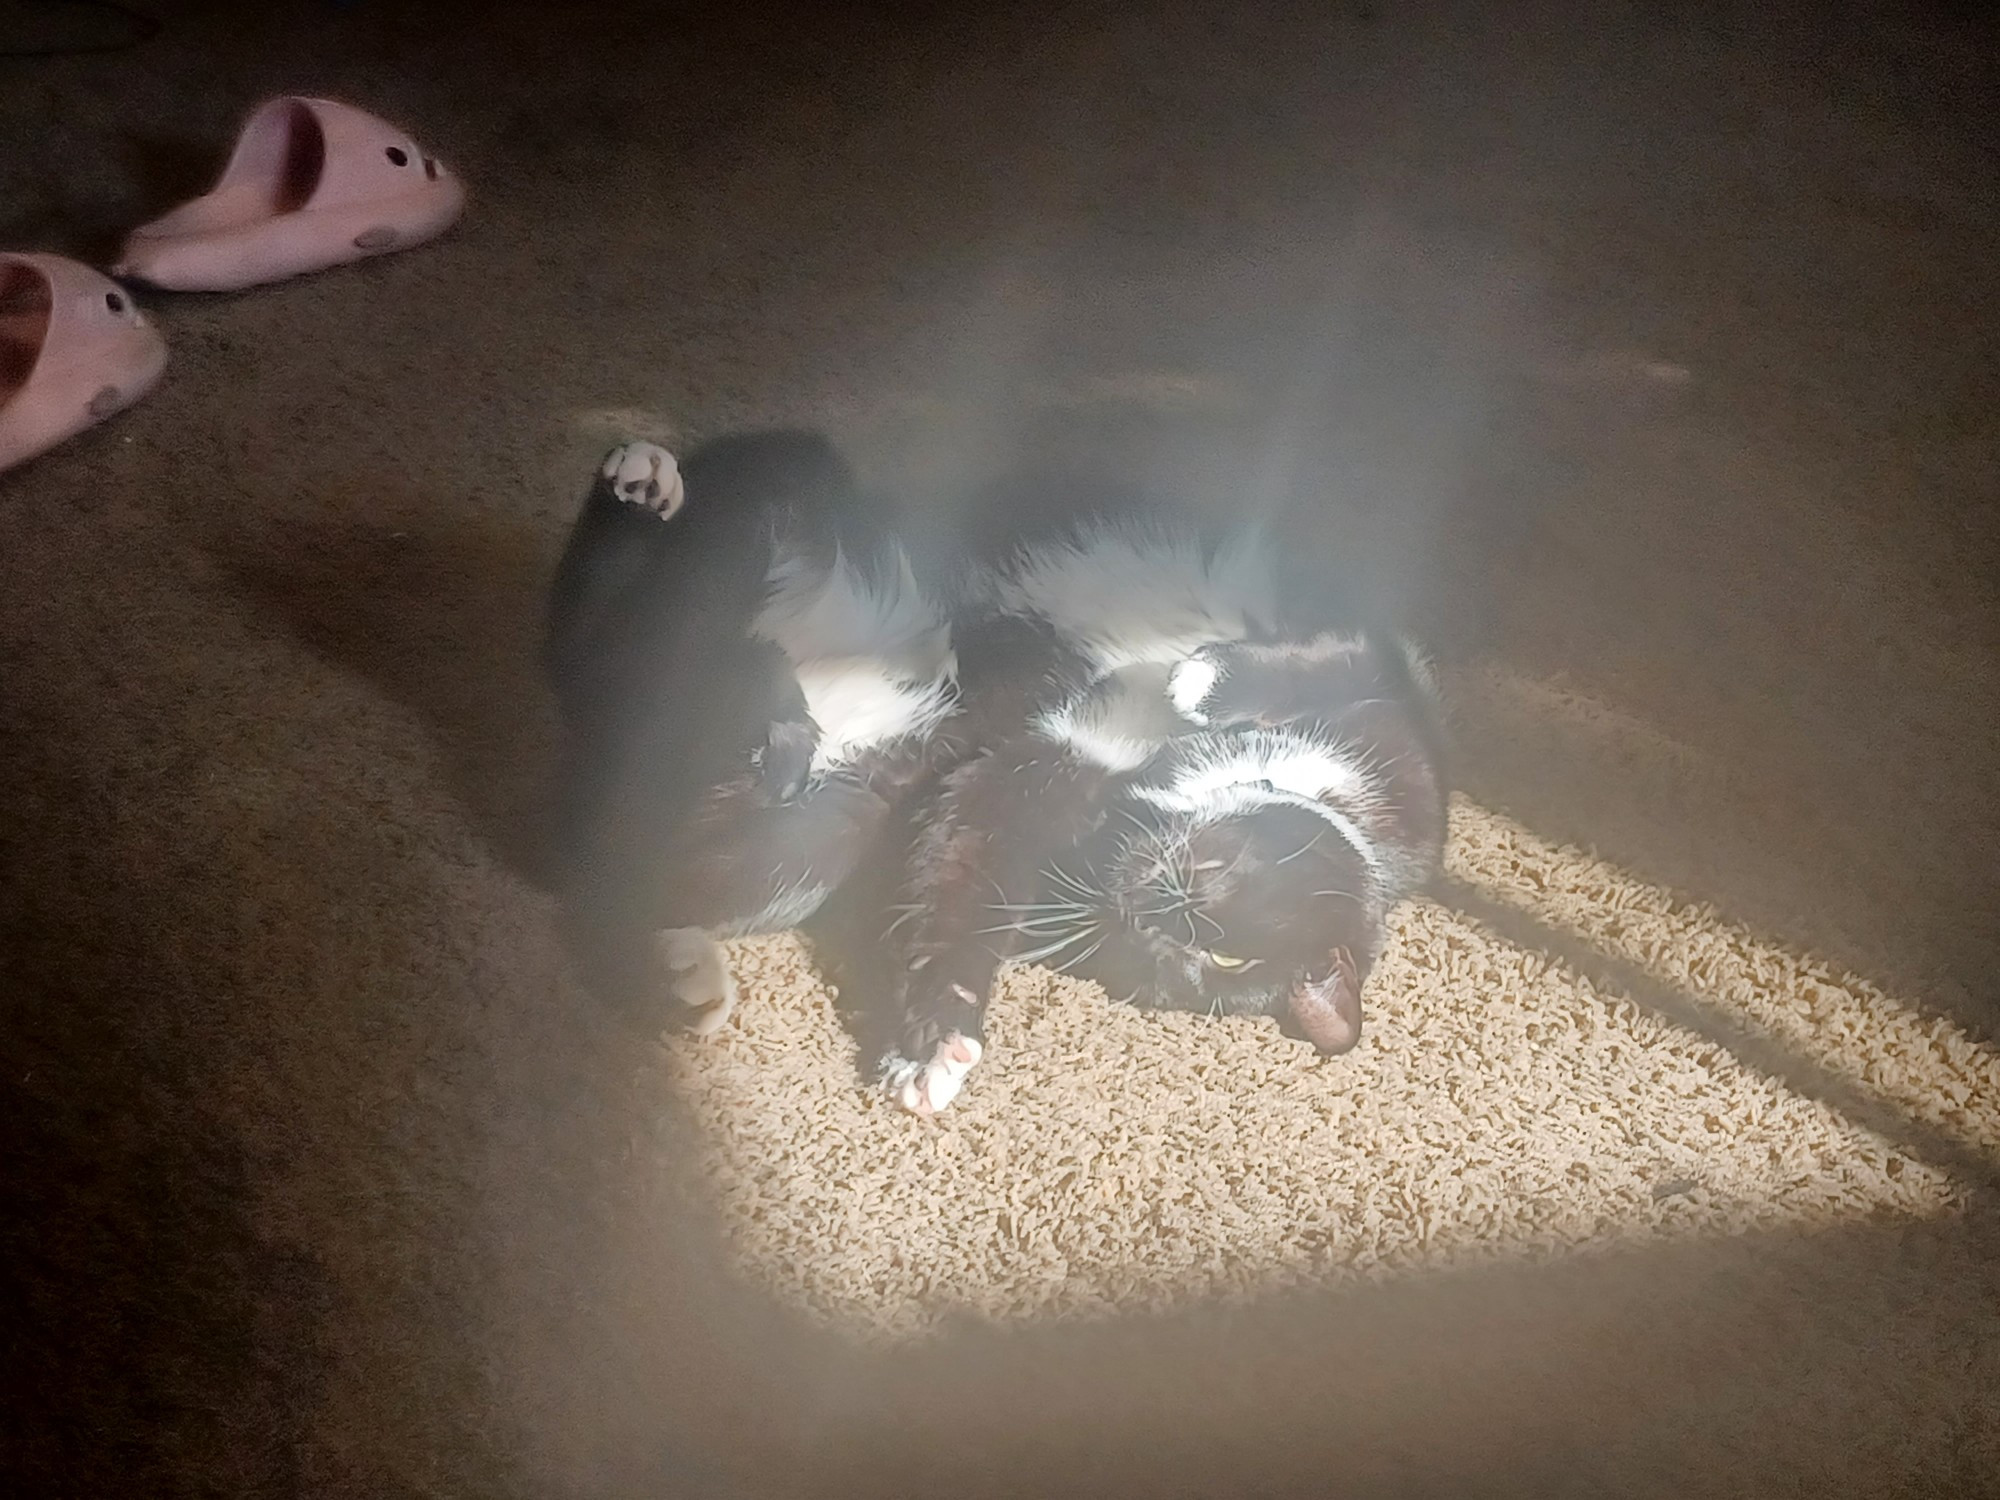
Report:
[[[290,90],[472,206],[0,474],[0,1494],[2000,1498],[1974,6],[138,8],[6,248]],[[1046,408],[1464,668],[1366,1046],[1024,974],[922,1124],[786,944],[634,1042],[516,858],[580,476]]]

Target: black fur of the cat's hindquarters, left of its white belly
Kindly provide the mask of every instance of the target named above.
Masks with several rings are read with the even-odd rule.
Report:
[[[752,634],[780,550],[894,566],[888,516],[826,438],[758,432],[694,452],[672,518],[598,478],[548,600],[568,728],[558,806],[574,938],[610,992],[652,1004],[664,928],[800,920],[866,856],[926,746],[812,780],[820,726],[784,652]],[[636,496],[654,498],[654,496]]]

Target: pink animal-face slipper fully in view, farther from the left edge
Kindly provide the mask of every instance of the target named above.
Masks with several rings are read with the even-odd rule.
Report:
[[[204,198],[132,230],[118,276],[234,292],[422,244],[466,190],[392,124],[326,98],[260,104]]]

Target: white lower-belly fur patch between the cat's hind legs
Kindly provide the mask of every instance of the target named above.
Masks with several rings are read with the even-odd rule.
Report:
[[[880,582],[840,554],[824,570],[780,558],[770,582],[752,634],[798,672],[820,726],[814,772],[938,726],[952,706],[958,660],[944,610],[918,588],[908,558],[898,554],[894,574]]]

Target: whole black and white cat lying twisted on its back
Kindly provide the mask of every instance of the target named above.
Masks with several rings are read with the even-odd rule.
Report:
[[[920,582],[812,434],[606,458],[548,618],[592,954],[714,1030],[716,940],[866,868],[862,910],[900,888],[880,1078],[906,1108],[958,1094],[1008,960],[1350,1048],[1444,836],[1416,656],[1328,622],[1254,528],[1082,512],[1000,538]]]

